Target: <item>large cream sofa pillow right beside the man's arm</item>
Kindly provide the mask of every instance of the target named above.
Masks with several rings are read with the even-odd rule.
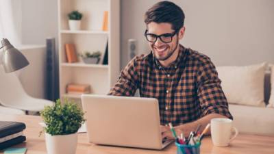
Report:
[[[233,104],[265,106],[266,63],[250,66],[219,66],[216,70],[227,101]]]

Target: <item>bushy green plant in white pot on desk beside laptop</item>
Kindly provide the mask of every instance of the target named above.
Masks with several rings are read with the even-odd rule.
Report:
[[[77,131],[84,123],[84,112],[72,101],[60,99],[40,112],[44,120],[45,140],[49,154],[75,154]]]

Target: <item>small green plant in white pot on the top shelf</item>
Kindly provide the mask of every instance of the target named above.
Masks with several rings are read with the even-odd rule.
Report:
[[[69,16],[69,29],[79,30],[81,28],[81,19],[83,14],[78,12],[78,10],[72,11],[68,14]]]

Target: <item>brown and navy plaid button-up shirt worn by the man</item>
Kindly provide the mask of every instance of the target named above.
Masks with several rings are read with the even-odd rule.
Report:
[[[158,99],[161,125],[182,125],[208,114],[232,119],[214,64],[206,55],[179,47],[177,60],[164,68],[152,53],[134,57],[109,94]]]

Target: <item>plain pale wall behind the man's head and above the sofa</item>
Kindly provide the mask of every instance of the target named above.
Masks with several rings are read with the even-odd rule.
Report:
[[[122,0],[121,60],[127,60],[127,40],[138,40],[138,53],[147,53],[144,14],[156,0]],[[186,15],[182,40],[211,57],[216,65],[274,63],[273,0],[176,0]]]

